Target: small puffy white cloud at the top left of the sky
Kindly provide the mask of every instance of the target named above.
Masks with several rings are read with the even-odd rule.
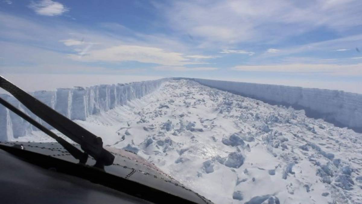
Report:
[[[32,1],[29,8],[33,9],[35,13],[44,16],[59,16],[69,11],[63,4],[51,0]]]

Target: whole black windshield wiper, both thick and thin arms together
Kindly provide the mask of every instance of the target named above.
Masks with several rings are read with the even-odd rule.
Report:
[[[43,104],[41,101],[35,99],[29,93],[26,93],[21,88],[15,86],[2,76],[0,76],[0,87],[11,93],[18,101],[20,101],[26,108],[28,108],[43,121],[47,122],[53,128],[63,133],[74,142],[78,143],[85,153],[82,153],[79,149],[77,149],[67,141],[63,140],[63,138],[56,136],[56,134],[39,124],[37,121],[30,118],[25,113],[13,107],[7,101],[3,99],[0,100],[1,104],[3,104],[5,107],[9,108],[32,125],[48,134],[56,141],[60,141],[59,143],[64,146],[64,148],[70,154],[72,154],[75,158],[79,159],[80,163],[87,162],[87,154],[89,154],[96,160],[96,164],[94,165],[95,167],[103,169],[104,166],[109,166],[113,164],[114,155],[103,148],[102,138],[97,137],[93,133],[90,133],[88,130],[82,128],[80,125],[71,121],[62,114],[56,112],[49,106]]]

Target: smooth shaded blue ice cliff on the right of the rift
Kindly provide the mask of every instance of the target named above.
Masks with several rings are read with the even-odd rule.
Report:
[[[191,79],[205,86],[251,97],[270,104],[304,109],[306,115],[323,118],[336,126],[362,132],[362,95],[344,91],[270,84]]]

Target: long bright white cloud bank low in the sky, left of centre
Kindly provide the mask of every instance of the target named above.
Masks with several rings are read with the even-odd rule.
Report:
[[[182,66],[184,64],[205,64],[202,62],[188,62],[182,53],[169,52],[156,47],[138,45],[118,45],[105,49],[89,51],[82,58],[70,54],[73,60],[123,62],[138,61],[143,63],[156,63],[168,66]]]

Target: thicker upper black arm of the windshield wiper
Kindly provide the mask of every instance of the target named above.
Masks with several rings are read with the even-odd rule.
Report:
[[[102,138],[97,137],[69,118],[56,112],[54,109],[35,99],[29,93],[15,86],[2,76],[0,76],[0,87],[11,93],[26,108],[47,122],[49,125],[63,133],[65,136],[78,143],[85,153],[96,160],[95,167],[104,168],[113,164],[114,155],[103,148]]]

